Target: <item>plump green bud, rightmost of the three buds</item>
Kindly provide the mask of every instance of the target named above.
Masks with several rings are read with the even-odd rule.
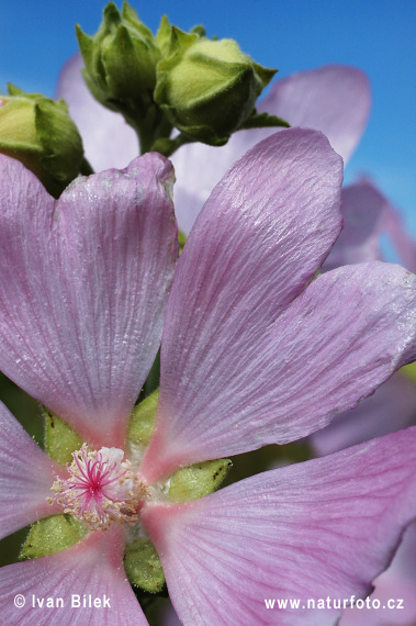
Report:
[[[173,26],[154,97],[183,134],[218,146],[254,113],[276,71],[256,64],[234,40],[212,41]]]

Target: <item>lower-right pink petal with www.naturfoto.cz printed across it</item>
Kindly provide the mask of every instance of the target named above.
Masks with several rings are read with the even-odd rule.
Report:
[[[416,428],[259,474],[144,522],[184,624],[333,625],[308,599],[366,596],[416,517]],[[267,610],[265,599],[300,599]]]

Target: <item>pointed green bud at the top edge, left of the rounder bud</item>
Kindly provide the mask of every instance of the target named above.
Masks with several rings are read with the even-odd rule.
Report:
[[[77,26],[77,37],[93,96],[110,109],[145,116],[160,51],[134,9],[124,2],[120,13],[110,2],[95,35],[90,37]]]

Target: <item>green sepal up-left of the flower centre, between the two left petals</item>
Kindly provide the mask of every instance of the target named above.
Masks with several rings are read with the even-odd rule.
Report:
[[[58,463],[72,461],[72,452],[82,446],[82,439],[64,420],[48,409],[44,410],[45,451]]]

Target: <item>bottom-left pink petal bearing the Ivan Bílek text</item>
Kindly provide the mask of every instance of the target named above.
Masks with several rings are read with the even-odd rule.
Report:
[[[146,626],[124,571],[123,548],[121,529],[97,532],[68,550],[2,568],[2,622],[15,626]],[[14,606],[18,594],[25,600],[22,607]],[[80,606],[76,605],[77,596]],[[48,599],[54,607],[47,607]],[[93,606],[95,599],[101,606]]]

